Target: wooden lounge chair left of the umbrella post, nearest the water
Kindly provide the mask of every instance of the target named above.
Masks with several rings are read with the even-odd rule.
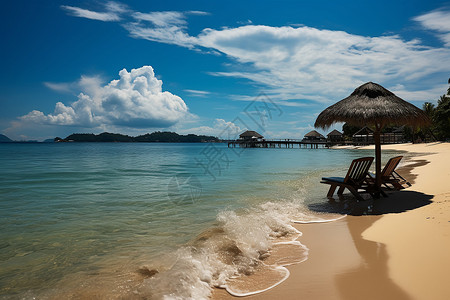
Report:
[[[368,178],[368,171],[372,162],[373,157],[358,158],[352,161],[345,177],[323,177],[320,183],[331,185],[327,194],[328,199],[333,199],[334,191],[339,186],[338,195],[342,195],[347,188],[356,199],[364,200],[358,193],[358,190],[364,189],[366,192],[369,191],[366,179]]]

